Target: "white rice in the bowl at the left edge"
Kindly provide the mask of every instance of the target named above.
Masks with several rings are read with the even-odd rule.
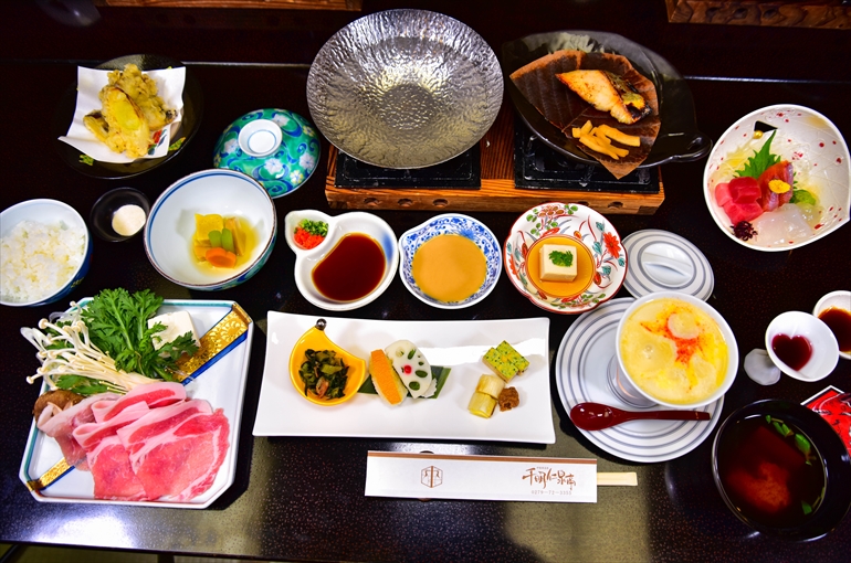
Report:
[[[85,257],[84,229],[21,221],[0,238],[0,294],[9,302],[49,297],[67,284]]]

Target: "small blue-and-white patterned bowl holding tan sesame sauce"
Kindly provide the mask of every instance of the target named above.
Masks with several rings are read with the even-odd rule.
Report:
[[[423,243],[442,234],[458,234],[473,241],[484,254],[487,273],[479,290],[463,301],[439,301],[426,295],[413,280],[413,255]],[[503,267],[502,247],[496,236],[484,223],[459,213],[445,213],[430,219],[419,226],[407,231],[399,237],[399,277],[408,290],[423,302],[439,309],[461,309],[475,305],[493,291]]]

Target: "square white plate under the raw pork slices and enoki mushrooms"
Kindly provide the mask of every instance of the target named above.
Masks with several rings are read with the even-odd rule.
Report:
[[[171,300],[166,299],[158,314],[176,312],[185,310],[192,318],[196,331],[199,336],[207,333],[225,315],[231,311],[233,301],[218,300]],[[40,502],[83,502],[97,504],[129,504],[166,508],[193,508],[203,509],[218,499],[231,485],[237,475],[237,446],[242,421],[242,400],[245,393],[245,380],[251,357],[251,340],[254,333],[254,323],[248,326],[242,341],[230,351],[219,354],[203,373],[186,385],[187,395],[191,399],[203,399],[216,408],[222,408],[230,423],[230,447],[219,468],[212,486],[202,495],[183,501],[170,502],[168,500],[153,501],[125,501],[103,500],[94,497],[94,481],[92,474],[72,469],[66,475],[55,480],[49,487],[40,491],[31,491],[35,500]],[[35,367],[33,367],[33,372]],[[42,389],[42,393],[46,387]],[[19,477],[25,485],[38,479],[56,461],[62,459],[62,452],[56,440],[45,436],[35,427],[33,421],[30,427],[30,436],[27,439],[27,449],[23,453]]]

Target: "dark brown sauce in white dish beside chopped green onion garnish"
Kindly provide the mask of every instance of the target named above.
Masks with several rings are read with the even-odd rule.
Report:
[[[378,287],[386,262],[381,246],[372,237],[349,233],[313,268],[313,283],[328,299],[355,301]]]

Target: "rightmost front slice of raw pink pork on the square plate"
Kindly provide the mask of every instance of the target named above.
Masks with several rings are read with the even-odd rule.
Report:
[[[189,400],[156,408],[118,429],[148,498],[182,501],[208,490],[224,461],[230,425],[221,408]]]

